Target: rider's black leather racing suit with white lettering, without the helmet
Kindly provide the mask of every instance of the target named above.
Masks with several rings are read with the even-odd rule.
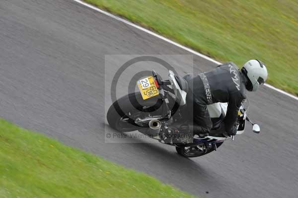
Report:
[[[207,110],[208,104],[228,102],[225,130],[230,132],[234,126],[241,102],[246,98],[246,77],[232,62],[220,65],[209,72],[198,75],[187,74],[183,77],[189,84],[186,96],[187,108],[193,120],[194,134],[208,133],[212,121]]]

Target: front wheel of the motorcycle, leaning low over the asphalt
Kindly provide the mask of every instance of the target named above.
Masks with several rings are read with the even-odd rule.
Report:
[[[220,147],[224,142],[217,143],[216,146]],[[214,151],[213,147],[204,148],[204,146],[179,146],[176,147],[176,151],[183,157],[200,157]]]

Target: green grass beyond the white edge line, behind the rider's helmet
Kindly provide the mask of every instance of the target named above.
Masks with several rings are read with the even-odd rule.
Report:
[[[219,61],[260,59],[298,95],[297,0],[85,0]]]

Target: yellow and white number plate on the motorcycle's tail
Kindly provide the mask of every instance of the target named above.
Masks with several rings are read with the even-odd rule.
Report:
[[[152,98],[159,94],[152,76],[148,76],[139,80],[137,84],[142,94],[143,100],[147,100],[148,98]]]

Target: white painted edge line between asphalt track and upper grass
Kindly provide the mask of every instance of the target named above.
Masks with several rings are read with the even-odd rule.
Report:
[[[141,27],[141,26],[139,26],[139,25],[136,25],[135,23],[132,23],[132,22],[130,22],[130,21],[128,21],[128,20],[125,20],[125,19],[123,19],[123,18],[120,18],[120,17],[118,17],[118,16],[115,16],[115,15],[113,15],[113,14],[107,12],[107,11],[102,10],[102,9],[99,9],[98,7],[95,7],[95,6],[91,5],[91,4],[88,4],[88,3],[83,2],[83,1],[81,1],[81,0],[74,0],[74,1],[77,2],[77,3],[80,3],[80,4],[82,4],[82,5],[85,5],[85,6],[89,7],[89,8],[91,8],[91,9],[94,9],[94,10],[96,10],[96,11],[102,13],[102,14],[105,14],[105,15],[107,15],[107,16],[110,16],[110,17],[112,17],[112,18],[114,18],[114,19],[116,19],[116,20],[118,20],[118,21],[121,21],[121,22],[123,22],[123,23],[126,23],[126,24],[128,24],[128,25],[130,25],[130,26],[133,26],[133,27],[135,27],[135,28],[137,28],[137,29],[139,29],[139,30],[142,30],[142,31],[144,31],[144,32],[146,32],[146,33],[148,33],[148,34],[150,34],[150,35],[152,35],[152,36],[155,36],[155,37],[157,37],[157,38],[159,38],[159,39],[161,39],[161,40],[164,40],[164,41],[166,41],[166,42],[168,42],[168,43],[170,43],[170,44],[173,44],[173,45],[175,45],[175,46],[177,46],[177,47],[179,47],[179,48],[182,48],[183,50],[186,50],[186,51],[188,51],[188,52],[190,52],[190,53],[193,53],[193,54],[195,54],[195,55],[197,55],[197,56],[199,56],[199,57],[202,57],[202,58],[204,58],[204,59],[206,59],[206,60],[208,60],[208,61],[210,61],[210,62],[213,62],[213,63],[218,64],[218,65],[222,64],[222,63],[220,63],[220,62],[218,62],[218,61],[216,61],[216,60],[211,59],[210,57],[207,57],[207,56],[205,56],[205,55],[203,55],[203,54],[201,54],[201,53],[199,53],[199,52],[196,52],[196,51],[194,51],[194,50],[192,50],[192,49],[190,49],[190,48],[187,48],[187,47],[185,47],[185,46],[183,46],[183,45],[181,45],[181,44],[179,44],[179,43],[176,43],[176,42],[174,42],[174,41],[172,41],[172,40],[170,40],[170,39],[167,39],[167,38],[165,38],[165,37],[163,37],[163,36],[160,36],[160,35],[158,35],[158,34],[152,32],[152,31],[150,31],[150,30],[148,30],[148,29],[145,29],[145,28],[143,28],[143,27]],[[293,99],[295,99],[295,100],[298,100],[298,97],[297,97],[297,96],[294,96],[294,95],[292,95],[292,94],[290,94],[290,93],[287,93],[286,91],[283,91],[283,90],[281,90],[281,89],[278,89],[278,88],[276,88],[276,87],[274,87],[274,86],[272,86],[272,85],[270,85],[270,84],[267,84],[267,83],[265,83],[264,85],[267,86],[267,87],[269,87],[269,88],[271,88],[271,89],[273,89],[273,90],[275,90],[275,91],[278,91],[278,92],[280,92],[280,93],[282,93],[282,94],[284,94],[284,95],[287,95],[287,96],[289,96],[289,97],[291,97],[291,98],[293,98]]]

